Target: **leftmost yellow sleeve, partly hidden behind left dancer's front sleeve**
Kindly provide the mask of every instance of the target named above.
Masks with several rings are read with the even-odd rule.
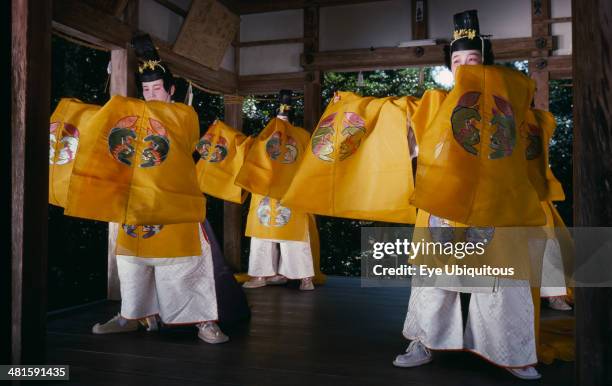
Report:
[[[66,207],[68,185],[85,123],[100,106],[63,98],[49,123],[49,203]]]

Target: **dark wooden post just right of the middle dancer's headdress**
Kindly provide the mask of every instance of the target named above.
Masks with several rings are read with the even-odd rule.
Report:
[[[304,8],[304,55],[319,51],[319,7]],[[321,77],[320,71],[306,74],[304,84],[304,128],[314,130],[321,117]]]

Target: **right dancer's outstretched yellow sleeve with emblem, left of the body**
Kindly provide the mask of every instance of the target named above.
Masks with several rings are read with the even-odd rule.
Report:
[[[281,203],[325,216],[414,223],[407,113],[416,103],[338,93]]]

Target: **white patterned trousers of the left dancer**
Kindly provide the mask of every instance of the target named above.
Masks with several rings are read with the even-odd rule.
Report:
[[[210,244],[199,229],[202,254],[177,258],[117,255],[121,316],[159,315],[166,324],[217,320],[217,296]]]

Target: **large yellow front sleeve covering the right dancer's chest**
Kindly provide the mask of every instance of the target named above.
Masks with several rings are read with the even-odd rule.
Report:
[[[534,82],[498,66],[460,66],[453,90],[423,129],[411,202],[473,226],[543,225],[520,135]],[[413,124],[418,122],[413,122]]]

